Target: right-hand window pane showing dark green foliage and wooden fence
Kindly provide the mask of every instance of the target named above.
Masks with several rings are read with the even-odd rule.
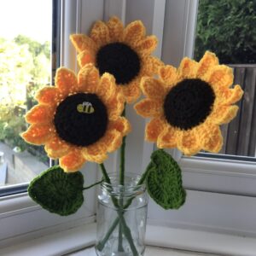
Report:
[[[195,37],[195,59],[206,50],[218,55],[220,64],[234,68],[234,84],[244,96],[239,113],[221,127],[224,147],[218,157],[255,160],[256,156],[256,1],[200,0]],[[221,154],[223,154],[221,156]],[[212,154],[207,154],[211,156]],[[230,156],[232,155],[232,156]],[[212,155],[214,156],[214,155]],[[216,156],[215,156],[216,157]]]

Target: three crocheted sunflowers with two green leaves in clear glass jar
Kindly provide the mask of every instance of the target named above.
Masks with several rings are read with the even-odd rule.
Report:
[[[144,245],[147,196],[164,209],[185,201],[177,162],[162,148],[178,148],[192,155],[202,150],[217,153],[223,144],[219,125],[230,122],[242,90],[233,84],[230,67],[206,52],[201,61],[185,57],[179,67],[164,65],[152,52],[157,38],[146,36],[139,20],[123,26],[117,17],[97,21],[90,36],[71,35],[78,51],[78,75],[57,70],[55,86],[38,91],[38,105],[26,113],[31,124],[21,136],[28,143],[45,145],[50,158],[59,159],[30,183],[28,193],[49,212],[66,216],[83,204],[83,175],[87,161],[102,170],[99,195],[99,255],[141,255]],[[125,137],[131,124],[125,104],[149,118],[145,139],[160,148],[141,177],[125,173]],[[103,162],[120,147],[120,170],[110,175]],[[115,234],[115,235],[114,235]],[[130,254],[129,254],[130,253]]]

